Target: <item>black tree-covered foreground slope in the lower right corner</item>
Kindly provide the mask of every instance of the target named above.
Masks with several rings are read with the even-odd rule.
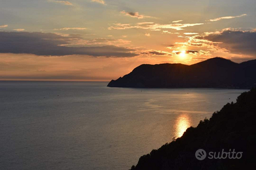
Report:
[[[181,138],[142,156],[131,169],[256,169],[255,121],[256,88],[253,88],[241,94],[236,103],[226,104],[209,120],[201,121],[196,128],[187,128]],[[207,157],[201,161],[195,157],[199,149],[207,152]],[[209,152],[218,156],[222,150],[243,153],[241,159],[208,158]]]

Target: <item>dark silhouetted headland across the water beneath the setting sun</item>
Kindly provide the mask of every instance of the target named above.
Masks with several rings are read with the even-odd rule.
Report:
[[[216,57],[195,65],[141,65],[112,80],[124,88],[251,88],[256,83],[256,60],[234,63]]]

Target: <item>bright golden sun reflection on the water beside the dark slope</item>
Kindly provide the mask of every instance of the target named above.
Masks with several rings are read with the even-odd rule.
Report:
[[[187,130],[187,128],[191,127],[191,119],[187,114],[181,114],[177,117],[175,124],[175,138],[179,138],[183,135],[183,133]]]

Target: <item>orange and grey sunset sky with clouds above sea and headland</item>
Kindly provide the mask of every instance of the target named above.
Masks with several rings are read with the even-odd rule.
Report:
[[[0,0],[0,80],[117,79],[256,59],[255,0]]]

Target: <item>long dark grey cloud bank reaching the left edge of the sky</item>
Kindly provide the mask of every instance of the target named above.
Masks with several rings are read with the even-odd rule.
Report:
[[[104,45],[96,47],[68,47],[79,36],[61,36],[42,32],[0,32],[0,53],[28,53],[46,56],[90,55],[106,57],[135,57],[133,49]]]

